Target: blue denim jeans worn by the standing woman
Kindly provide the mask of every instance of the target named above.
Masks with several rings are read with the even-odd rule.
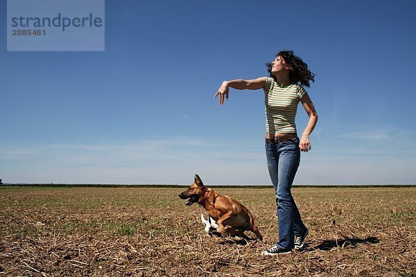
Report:
[[[279,241],[276,246],[293,249],[295,235],[300,235],[306,229],[291,193],[300,163],[299,138],[281,143],[266,143],[266,157],[277,204]]]

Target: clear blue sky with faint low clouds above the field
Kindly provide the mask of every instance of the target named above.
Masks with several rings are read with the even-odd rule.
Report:
[[[6,51],[7,183],[270,184],[262,91],[281,49],[316,74],[319,114],[295,184],[416,184],[415,1],[105,1],[105,51]],[[297,129],[306,126],[298,109]]]

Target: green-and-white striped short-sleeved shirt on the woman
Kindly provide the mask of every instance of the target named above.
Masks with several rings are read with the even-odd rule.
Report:
[[[297,104],[306,91],[300,84],[280,87],[270,77],[264,85],[264,105],[266,106],[266,133],[295,133]]]

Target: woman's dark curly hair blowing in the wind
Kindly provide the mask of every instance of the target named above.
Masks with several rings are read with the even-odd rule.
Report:
[[[277,56],[283,57],[283,60],[291,67],[291,73],[289,74],[289,81],[291,84],[302,84],[306,87],[311,87],[310,82],[315,82],[315,74],[308,69],[308,64],[304,62],[300,57],[293,54],[293,51],[280,51]],[[266,63],[267,71],[270,73],[270,77],[277,80],[276,76],[272,74],[272,63]]]

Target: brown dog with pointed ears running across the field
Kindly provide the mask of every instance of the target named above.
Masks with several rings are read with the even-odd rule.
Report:
[[[207,188],[202,184],[198,175],[195,175],[195,182],[183,193],[180,193],[179,197],[189,199],[186,203],[187,206],[198,203],[204,207],[209,216],[217,222],[218,232],[223,235],[229,233],[250,239],[244,234],[244,231],[252,231],[257,238],[263,240],[248,208],[226,195],[219,195],[211,188]]]

